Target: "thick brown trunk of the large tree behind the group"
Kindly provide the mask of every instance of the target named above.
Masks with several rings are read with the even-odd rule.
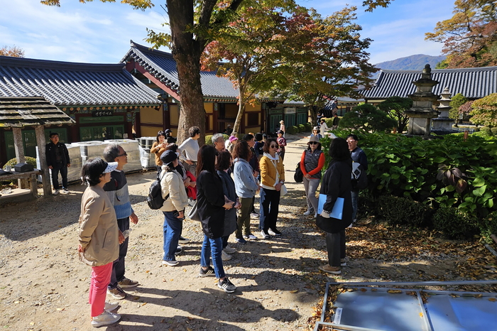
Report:
[[[204,144],[205,109],[202,85],[200,83],[200,55],[204,50],[204,40],[197,39],[187,28],[193,24],[193,0],[167,0],[173,58],[178,67],[180,80],[180,119],[178,123],[178,143],[190,135],[192,126],[200,128],[199,145]]]

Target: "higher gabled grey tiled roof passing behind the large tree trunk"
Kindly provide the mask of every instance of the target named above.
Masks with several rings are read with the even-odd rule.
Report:
[[[151,50],[146,46],[138,45],[131,40],[131,49],[126,53],[121,62],[129,59],[135,60],[155,78],[163,82],[176,92],[180,89],[178,69],[173,55],[161,50]],[[235,102],[239,95],[233,83],[224,77],[217,77],[216,72],[201,71],[202,94],[205,99],[224,99]]]

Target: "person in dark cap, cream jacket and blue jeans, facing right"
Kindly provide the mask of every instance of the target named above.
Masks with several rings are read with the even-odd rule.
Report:
[[[165,151],[160,156],[163,162],[160,173],[160,189],[165,199],[160,210],[164,214],[163,226],[163,265],[177,266],[175,252],[185,218],[185,207],[188,205],[188,196],[183,184],[183,178],[175,169],[178,166],[178,155],[173,150]],[[167,199],[166,199],[167,197]]]

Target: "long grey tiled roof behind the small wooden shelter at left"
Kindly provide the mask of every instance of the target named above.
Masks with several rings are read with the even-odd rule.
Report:
[[[152,105],[158,93],[118,64],[0,56],[0,97],[45,97],[58,105]]]

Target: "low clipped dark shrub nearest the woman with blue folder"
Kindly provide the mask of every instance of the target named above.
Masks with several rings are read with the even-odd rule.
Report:
[[[432,209],[406,197],[381,195],[376,204],[379,216],[389,224],[406,224],[415,227],[430,225]]]

